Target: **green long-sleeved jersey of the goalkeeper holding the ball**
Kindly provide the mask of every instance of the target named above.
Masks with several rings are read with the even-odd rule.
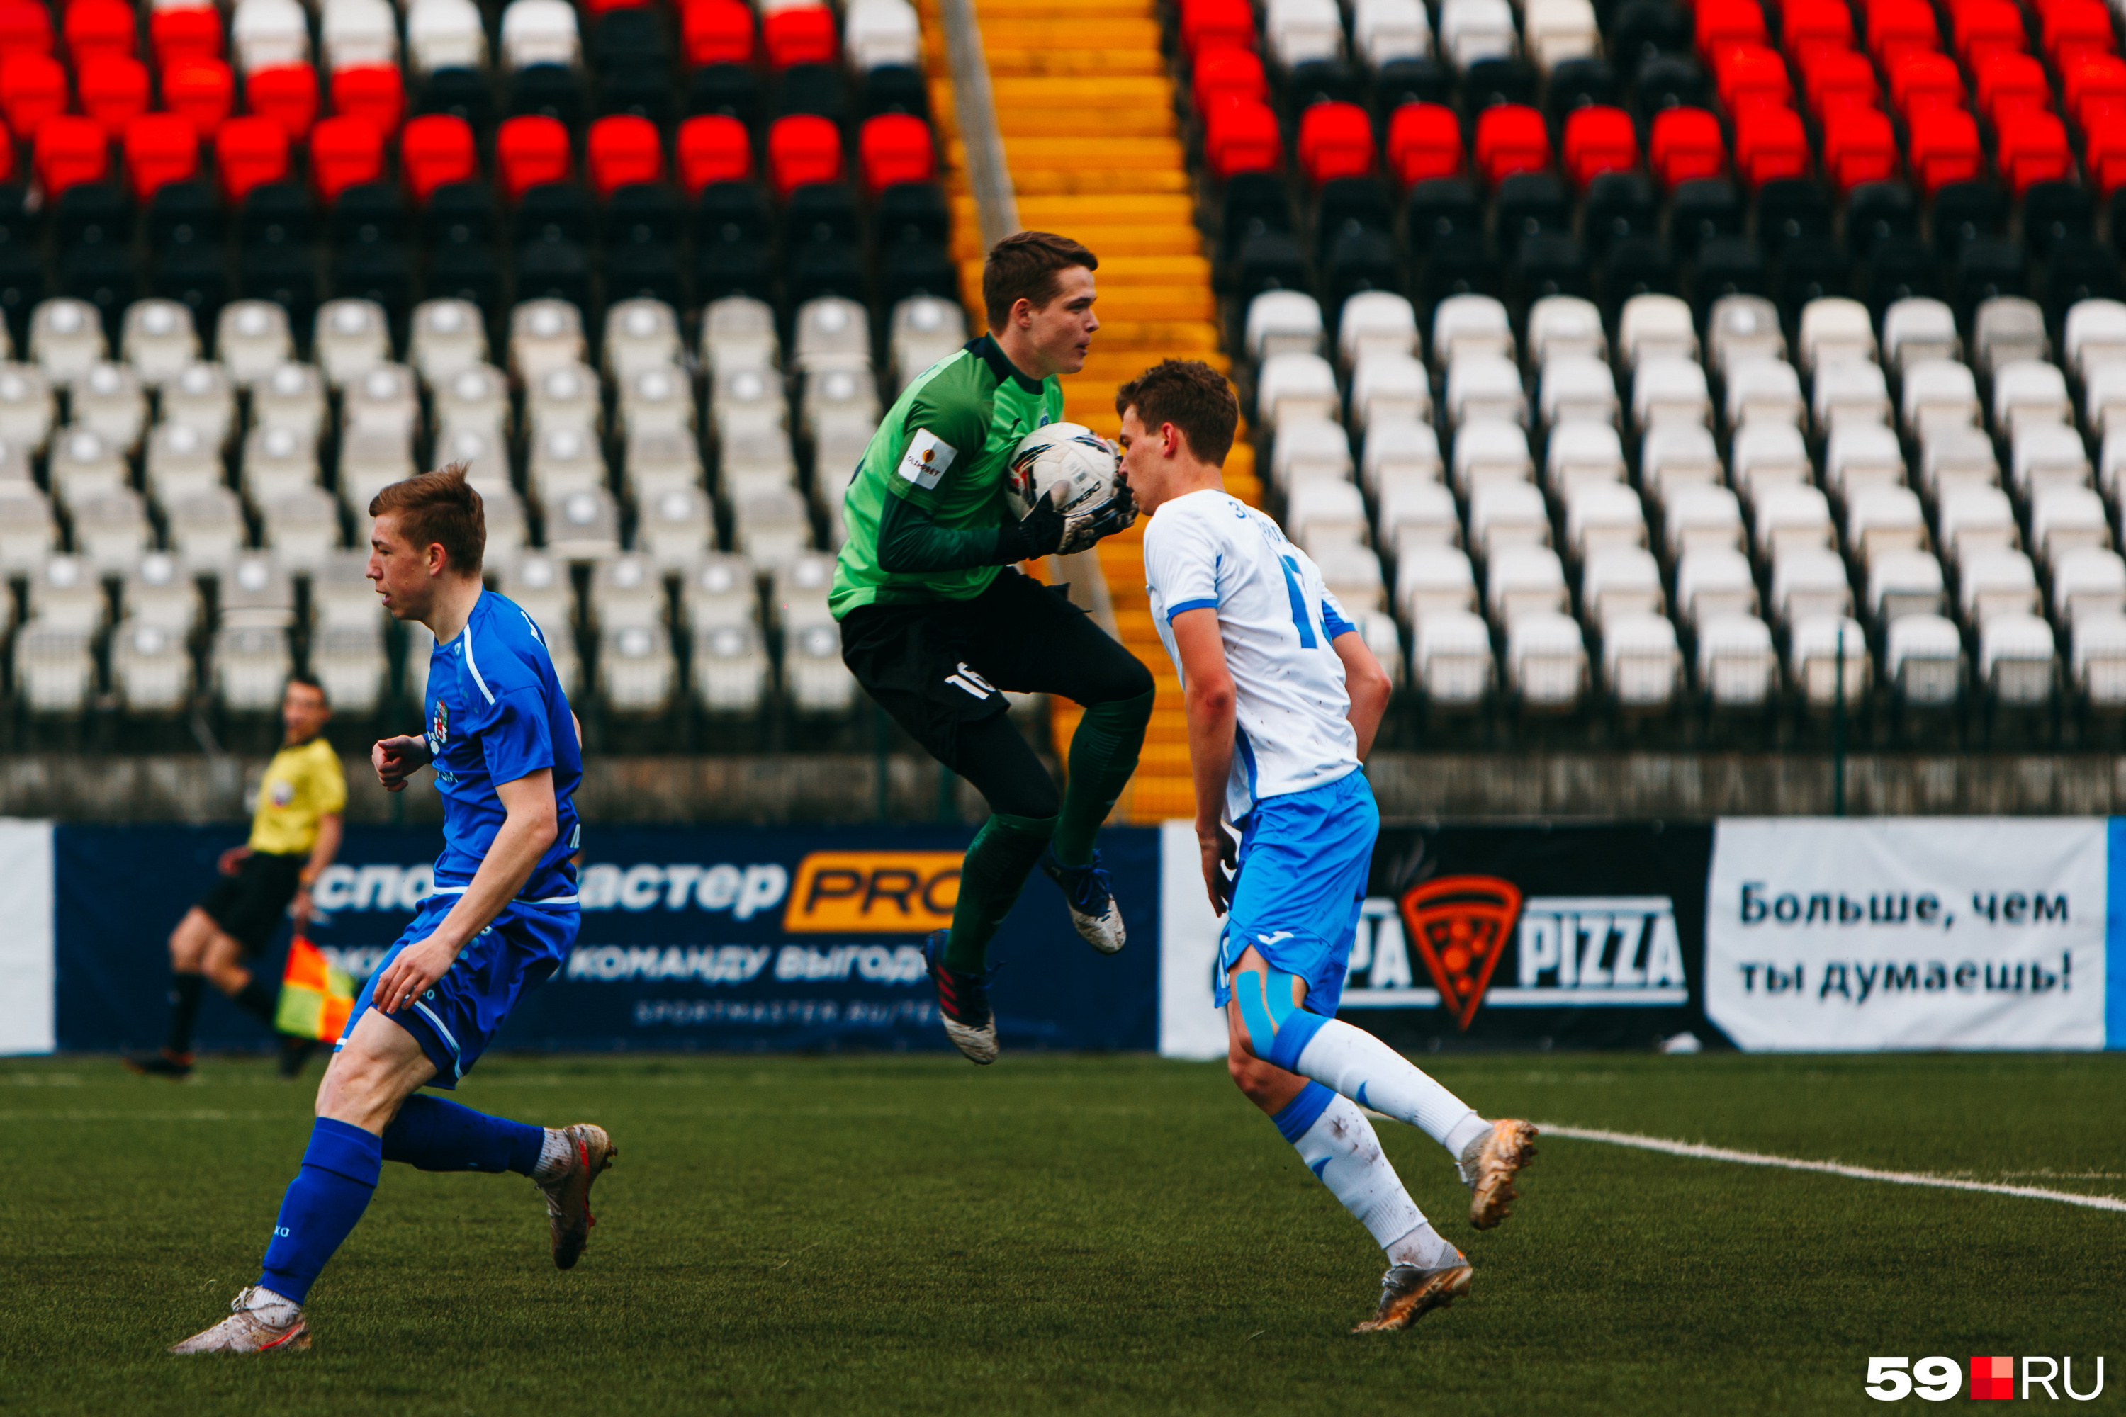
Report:
[[[1020,374],[989,336],[916,376],[842,495],[848,540],[833,567],[833,618],[986,591],[1025,554],[1003,497],[1012,450],[1061,416],[1061,385]]]

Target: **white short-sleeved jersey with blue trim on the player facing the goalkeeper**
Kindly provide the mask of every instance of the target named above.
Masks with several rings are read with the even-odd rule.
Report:
[[[1218,612],[1235,699],[1231,822],[1244,822],[1265,797],[1356,771],[1344,661],[1331,648],[1352,622],[1320,567],[1278,523],[1220,491],[1176,497],[1144,529],[1144,582],[1176,669],[1174,616]]]

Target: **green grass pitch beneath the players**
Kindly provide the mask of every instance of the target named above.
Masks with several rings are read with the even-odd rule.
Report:
[[[1431,1062],[1486,1115],[2126,1194],[2126,1056]],[[1867,1360],[1933,1353],[2105,1353],[2071,1406],[2126,1409],[2120,1213],[1546,1139],[1478,1234],[1382,1122],[1475,1287],[1352,1336],[1380,1251],[1214,1064],[497,1056],[457,1096],[612,1130],[576,1270],[521,1177],[387,1166],[310,1353],[179,1360],[310,1083],[0,1062],[0,1413],[1873,1413]]]

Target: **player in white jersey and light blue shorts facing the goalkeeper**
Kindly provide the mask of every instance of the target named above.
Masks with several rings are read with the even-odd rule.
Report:
[[[1216,370],[1165,361],[1123,385],[1123,470],[1159,637],[1182,673],[1203,886],[1227,918],[1216,998],[1227,1066],[1307,1168],[1388,1253],[1359,1332],[1407,1328],[1469,1292],[1469,1260],[1418,1211],[1361,1107],[1424,1130],[1488,1230],[1535,1156],[1526,1122],[1486,1122],[1373,1035],[1335,1020],[1380,831],[1361,761],[1388,676],[1320,567],[1225,491],[1239,408]],[[1227,824],[1239,831],[1239,850]]]

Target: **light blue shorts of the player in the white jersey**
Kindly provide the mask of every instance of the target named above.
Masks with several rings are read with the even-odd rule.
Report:
[[[1335,1018],[1378,835],[1380,807],[1363,771],[1254,803],[1212,979],[1220,1009],[1231,998],[1227,975],[1254,945],[1271,969],[1305,979],[1307,1013]]]

